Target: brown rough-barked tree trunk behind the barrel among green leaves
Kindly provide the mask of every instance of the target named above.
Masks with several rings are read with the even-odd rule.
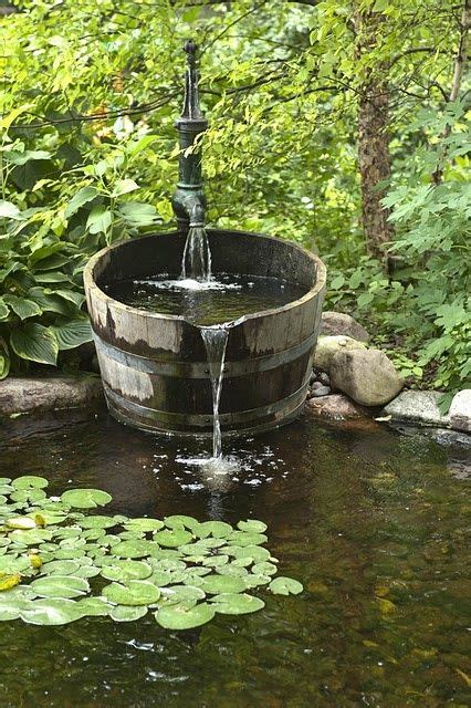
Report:
[[[376,34],[384,15],[358,12],[355,17],[357,55],[375,48]],[[362,187],[362,221],[368,253],[386,261],[386,244],[394,228],[388,222],[389,210],[381,206],[385,187],[378,187],[390,176],[389,90],[387,65],[369,70],[360,86],[358,104],[358,166]]]

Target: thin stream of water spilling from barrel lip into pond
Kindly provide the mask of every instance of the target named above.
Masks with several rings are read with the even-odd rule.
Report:
[[[226,345],[229,330],[223,325],[200,327],[208,356],[212,388],[212,458],[222,459],[221,425],[219,421],[219,400],[221,398]]]

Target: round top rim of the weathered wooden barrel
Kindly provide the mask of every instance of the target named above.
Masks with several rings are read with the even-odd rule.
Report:
[[[312,253],[311,251],[308,251],[307,249],[303,248],[302,246],[299,246],[297,243],[292,243],[291,241],[284,241],[282,239],[279,239],[274,236],[268,236],[265,233],[258,233],[254,231],[239,231],[236,229],[207,229],[207,233],[210,236],[211,233],[214,235],[238,235],[238,233],[243,233],[244,236],[251,236],[251,237],[255,237],[255,238],[261,238],[261,239],[265,239],[269,241],[273,241],[275,243],[283,243],[285,246],[287,246],[289,248],[292,248],[293,250],[297,250],[300,251],[303,256],[305,256],[306,258],[308,258],[311,261],[313,261],[316,266],[316,281],[314,283],[314,285],[302,296],[299,298],[297,300],[292,300],[291,302],[287,302],[285,305],[282,305],[280,308],[271,308],[270,310],[260,310],[259,312],[253,312],[251,314],[245,314],[242,315],[241,317],[237,319],[237,320],[232,320],[229,322],[221,322],[220,324],[217,325],[212,325],[214,329],[221,325],[226,325],[226,326],[230,326],[236,327],[239,325],[244,324],[245,322],[252,321],[252,320],[258,320],[258,319],[265,319],[269,315],[275,315],[275,314],[281,314],[284,312],[289,312],[290,310],[292,310],[293,308],[299,308],[300,305],[303,305],[305,302],[308,302],[310,300],[314,299],[316,295],[318,295],[320,292],[322,292],[322,290],[324,289],[325,284],[326,284],[326,280],[327,280],[327,269],[325,267],[325,263],[321,260],[321,258],[315,254]],[[136,240],[136,241],[142,241],[144,239],[151,239],[151,238],[158,238],[158,237],[175,237],[175,236],[180,236],[182,237],[181,233],[179,233],[178,231],[165,231],[163,233],[149,233],[148,236],[144,236],[137,239],[129,239],[126,241],[119,241],[118,243],[113,243],[112,246],[107,246],[103,249],[101,249],[97,253],[95,253],[94,256],[92,256],[92,258],[88,260],[88,262],[86,263],[84,271],[83,271],[83,281],[84,281],[84,287],[85,287],[85,292],[86,293],[91,293],[92,291],[95,291],[95,294],[97,295],[97,298],[100,300],[102,300],[105,303],[113,303],[113,306],[116,308],[117,310],[121,310],[123,312],[128,312],[132,313],[136,316],[144,316],[145,319],[151,319],[151,320],[166,320],[169,322],[179,322],[179,323],[185,323],[191,327],[195,327],[197,330],[200,330],[201,326],[198,324],[195,324],[193,322],[187,320],[187,317],[185,315],[181,314],[165,314],[165,313],[160,313],[160,312],[148,312],[147,310],[142,310],[139,308],[133,308],[132,305],[127,305],[124,302],[119,302],[119,300],[115,300],[114,298],[111,298],[108,294],[106,294],[96,283],[95,278],[94,278],[94,270],[97,266],[97,263],[108,253],[112,253],[115,250],[119,250],[119,248],[123,248],[125,244],[129,243],[129,241]],[[93,320],[93,313],[90,313],[92,320]]]

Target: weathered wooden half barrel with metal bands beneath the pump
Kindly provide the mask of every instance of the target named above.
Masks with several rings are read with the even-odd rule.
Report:
[[[229,330],[220,399],[223,433],[287,423],[303,408],[325,293],[325,267],[278,239],[208,230],[214,273],[282,278],[305,288],[300,300],[250,314]],[[156,433],[212,431],[212,394],[198,326],[184,316],[138,310],[109,298],[116,280],[180,271],[185,237],[148,236],[100,251],[84,272],[88,312],[112,415]]]

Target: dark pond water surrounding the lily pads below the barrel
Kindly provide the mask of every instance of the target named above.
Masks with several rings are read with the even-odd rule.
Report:
[[[261,590],[261,612],[179,633],[151,614],[2,622],[2,708],[468,705],[464,439],[305,417],[229,440],[240,468],[219,478],[191,461],[208,440],[157,438],[105,413],[41,429],[20,418],[0,439],[0,477],[104,489],[107,513],[261,519],[280,572],[305,589]]]

